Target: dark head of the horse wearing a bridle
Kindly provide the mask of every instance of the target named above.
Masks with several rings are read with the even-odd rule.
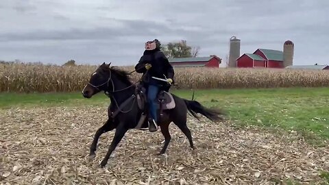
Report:
[[[111,63],[110,63],[111,64]],[[101,92],[101,90],[107,90],[110,83],[110,64],[101,64],[96,71],[90,75],[88,84],[84,86],[82,95],[85,98],[93,97],[93,95]]]

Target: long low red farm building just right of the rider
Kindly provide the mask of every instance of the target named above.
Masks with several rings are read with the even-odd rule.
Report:
[[[219,68],[221,58],[217,56],[191,57],[191,58],[169,58],[173,67],[213,67]]]

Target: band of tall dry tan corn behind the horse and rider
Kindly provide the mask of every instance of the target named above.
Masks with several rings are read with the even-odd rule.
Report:
[[[122,66],[126,71],[133,66]],[[97,66],[0,64],[0,92],[76,92]],[[132,73],[132,82],[141,74]],[[176,89],[329,87],[329,71],[293,69],[175,69]]]

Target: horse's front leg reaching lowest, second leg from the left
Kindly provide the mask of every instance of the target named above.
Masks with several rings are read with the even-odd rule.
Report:
[[[108,163],[108,159],[110,158],[110,155],[112,151],[117,147],[117,145],[120,143],[121,139],[127,132],[127,127],[124,125],[124,123],[120,123],[117,127],[117,130],[115,131],[114,138],[112,140],[112,143],[110,147],[108,147],[108,153],[106,153],[105,158],[101,161],[101,167],[105,167],[105,165]]]

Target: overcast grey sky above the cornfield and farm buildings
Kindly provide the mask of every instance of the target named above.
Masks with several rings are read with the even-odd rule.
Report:
[[[0,0],[0,60],[132,65],[147,40],[187,40],[226,60],[295,44],[294,64],[329,64],[328,0]]]

